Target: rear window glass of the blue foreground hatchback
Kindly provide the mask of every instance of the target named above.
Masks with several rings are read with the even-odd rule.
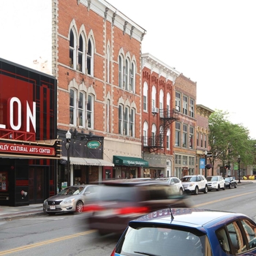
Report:
[[[123,238],[123,239],[122,239]],[[129,227],[116,252],[121,255],[204,255],[208,238],[203,233],[163,227]],[[208,248],[209,249],[209,248]],[[209,254],[211,255],[211,254]]]

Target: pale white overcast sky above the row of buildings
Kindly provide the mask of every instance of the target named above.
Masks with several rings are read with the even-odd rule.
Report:
[[[227,111],[256,139],[255,0],[108,2],[146,29],[143,53],[197,82],[197,104]],[[50,8],[51,0],[1,1],[0,57],[51,61]]]

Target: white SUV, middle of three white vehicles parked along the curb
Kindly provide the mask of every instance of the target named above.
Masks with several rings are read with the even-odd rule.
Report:
[[[203,175],[184,176],[181,178],[181,183],[187,193],[198,195],[200,191],[204,193],[208,192],[208,184]]]

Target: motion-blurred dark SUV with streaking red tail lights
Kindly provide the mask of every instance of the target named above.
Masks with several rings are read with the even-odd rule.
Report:
[[[127,223],[143,214],[166,207],[189,207],[187,197],[173,193],[172,187],[156,180],[137,178],[105,181],[97,200],[87,202],[89,227],[100,235],[123,233]]]

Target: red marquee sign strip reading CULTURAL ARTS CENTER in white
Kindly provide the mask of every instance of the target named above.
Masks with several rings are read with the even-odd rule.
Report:
[[[0,143],[0,153],[37,154],[42,156],[54,156],[55,149],[44,146]]]

